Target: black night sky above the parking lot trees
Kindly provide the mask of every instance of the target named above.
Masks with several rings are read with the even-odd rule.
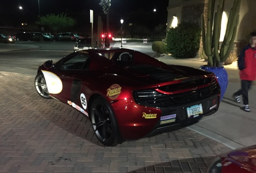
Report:
[[[97,24],[97,17],[102,16],[105,20],[100,0],[39,0],[40,15],[64,13],[76,19],[78,26],[90,24],[90,10],[94,12],[94,23]],[[169,0],[111,0],[109,22],[113,29],[125,20],[127,13],[132,11],[144,11],[155,15],[156,24],[167,22],[167,6]],[[19,9],[23,7],[23,10]],[[156,12],[153,9],[156,8]],[[21,22],[28,24],[37,20],[39,15],[38,0],[0,0],[0,26],[17,26]],[[127,22],[125,20],[125,22]],[[116,24],[116,26],[115,26]]]

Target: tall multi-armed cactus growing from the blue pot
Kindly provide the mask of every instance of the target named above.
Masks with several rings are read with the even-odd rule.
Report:
[[[201,15],[202,24],[202,43],[204,53],[208,57],[208,66],[221,67],[223,62],[227,60],[237,30],[239,22],[239,10],[241,0],[234,0],[233,6],[230,10],[229,18],[227,21],[227,29],[225,32],[224,40],[221,48],[219,48],[219,38],[221,35],[221,20],[225,0],[219,0],[217,11],[215,11],[215,0],[208,1],[208,13],[206,28],[204,23],[204,14]]]

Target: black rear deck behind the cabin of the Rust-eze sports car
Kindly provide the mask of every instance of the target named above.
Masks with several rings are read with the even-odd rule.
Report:
[[[209,74],[209,72],[186,66],[170,65],[165,68],[141,64],[125,67],[125,70],[140,78],[140,80],[151,81],[152,84],[171,82],[173,80],[193,78]]]

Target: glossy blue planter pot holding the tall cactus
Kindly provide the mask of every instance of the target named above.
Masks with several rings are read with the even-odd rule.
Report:
[[[209,72],[213,72],[215,74],[215,76],[217,77],[217,80],[219,82],[219,85],[221,87],[220,101],[222,101],[222,98],[226,92],[227,84],[228,84],[228,76],[227,76],[227,71],[225,70],[225,68],[224,67],[209,67],[209,66],[203,65],[200,67],[200,69],[206,70]]]

